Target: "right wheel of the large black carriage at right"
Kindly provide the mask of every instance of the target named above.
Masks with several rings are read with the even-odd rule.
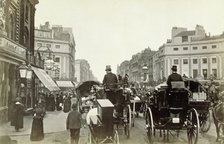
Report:
[[[199,127],[198,113],[193,108],[187,117],[187,138],[189,144],[197,144]]]

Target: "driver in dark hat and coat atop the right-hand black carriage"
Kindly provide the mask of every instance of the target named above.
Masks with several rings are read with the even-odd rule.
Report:
[[[168,88],[171,88],[171,82],[172,81],[183,81],[182,76],[177,73],[177,66],[173,65],[171,70],[172,70],[172,74],[170,74],[168,79],[167,79]]]

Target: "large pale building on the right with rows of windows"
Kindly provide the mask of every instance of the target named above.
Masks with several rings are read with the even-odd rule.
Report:
[[[167,78],[172,65],[176,65],[178,73],[187,77],[221,79],[224,77],[224,33],[206,35],[200,25],[191,31],[174,27],[172,39],[159,48],[153,56],[153,63],[155,81]]]

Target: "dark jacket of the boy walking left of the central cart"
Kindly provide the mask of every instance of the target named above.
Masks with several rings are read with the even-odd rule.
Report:
[[[77,110],[69,112],[66,120],[67,129],[80,129],[81,128],[82,115]]]

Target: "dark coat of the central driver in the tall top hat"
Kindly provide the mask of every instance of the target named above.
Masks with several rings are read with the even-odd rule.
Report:
[[[113,73],[107,73],[103,78],[103,85],[110,90],[114,90],[117,88],[117,76]]]

